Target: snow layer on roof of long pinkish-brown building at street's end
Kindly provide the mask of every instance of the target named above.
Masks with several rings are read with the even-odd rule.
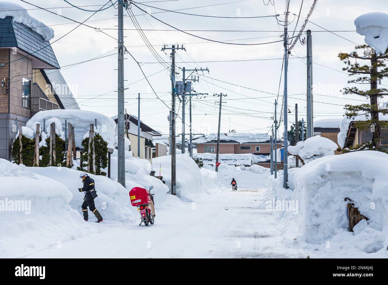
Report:
[[[208,143],[217,141],[218,134],[211,133],[205,136],[197,136],[193,143]],[[220,142],[230,143],[262,143],[268,142],[270,137],[266,133],[221,133]],[[281,140],[278,140],[282,142]]]

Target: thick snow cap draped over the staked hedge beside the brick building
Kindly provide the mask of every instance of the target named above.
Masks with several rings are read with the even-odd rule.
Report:
[[[64,109],[40,111],[29,119],[26,127],[30,128],[35,136],[36,127],[35,130],[33,127],[36,126],[36,122],[39,122],[40,126],[43,127],[45,120],[46,132],[50,131],[50,123],[55,122],[55,133],[64,139],[65,120],[67,120],[66,123],[71,123],[74,127],[76,147],[83,149],[81,142],[89,136],[90,124],[95,124],[95,119],[97,119],[97,126],[94,127],[95,132],[102,136],[109,148],[113,148],[116,123],[110,117],[96,112]],[[24,129],[22,131],[24,133]]]

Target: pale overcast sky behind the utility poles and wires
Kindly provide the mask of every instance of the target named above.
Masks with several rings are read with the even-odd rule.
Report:
[[[148,2],[152,0],[139,0],[139,2]],[[166,10],[181,10],[181,12],[191,14],[201,14],[208,16],[225,17],[253,17],[280,14],[278,19],[284,19],[285,1],[272,0],[176,0],[169,2],[151,2],[144,3],[154,7]],[[12,1],[23,5],[26,9],[33,6],[21,2]],[[44,8],[69,7],[69,4],[56,0],[29,0],[35,5]],[[74,5],[104,5],[104,0],[100,1],[82,1],[69,0]],[[228,3],[229,2],[229,3]],[[216,5],[222,4],[223,5]],[[312,5],[312,0],[304,0],[301,9],[301,17],[305,18]],[[274,4],[274,5],[272,5]],[[208,6],[209,7],[199,7]],[[301,0],[291,0],[289,20],[289,32],[292,34],[301,5]],[[163,22],[182,30],[238,30],[238,31],[188,31],[196,36],[210,40],[227,41],[229,43],[267,43],[269,41],[282,40],[283,27],[278,25],[275,17],[253,18],[253,19],[224,19],[215,17],[199,17],[182,15],[173,12],[163,12],[158,9],[139,5],[144,10]],[[193,7],[199,7],[190,9]],[[343,96],[340,89],[347,86],[348,75],[341,73],[343,63],[338,60],[339,52],[351,52],[354,50],[355,43],[364,43],[364,37],[355,32],[353,24],[354,19],[367,12],[385,12],[388,4],[383,1],[350,1],[350,0],[319,0],[310,21],[328,29],[330,31],[341,31],[329,33],[324,29],[315,26],[311,22],[307,23],[306,29],[311,29],[313,36],[313,83],[314,83],[314,111],[315,120],[327,118],[341,118],[343,115],[343,105],[354,103],[353,100],[361,100],[358,96]],[[98,6],[83,7],[84,9],[97,10]],[[76,21],[85,21],[93,12],[78,10],[73,7],[51,9],[53,12],[61,13],[62,16],[69,17]],[[194,84],[197,92],[209,93],[206,98],[193,97],[192,100],[192,118],[193,132],[210,133],[217,132],[218,125],[218,105],[213,97],[213,93],[227,93],[223,99],[223,115],[221,121],[221,132],[235,129],[236,131],[249,131],[267,133],[272,125],[271,117],[274,111],[274,100],[277,98],[279,80],[282,68],[283,43],[269,43],[265,45],[227,45],[223,43],[209,42],[180,31],[172,31],[173,28],[159,22],[150,15],[144,16],[137,7],[132,6],[132,11],[137,18],[142,29],[151,29],[144,31],[148,40],[154,45],[156,52],[170,62],[169,53],[166,55],[161,51],[163,44],[171,47],[171,44],[184,43],[184,50],[177,51],[177,67],[195,68],[208,67],[210,73],[204,73],[199,77],[199,83]],[[29,13],[44,22],[46,25],[52,25],[55,37],[52,41],[68,33],[78,24],[64,19],[60,16],[51,14],[45,10],[29,10]],[[104,32],[117,38],[117,10],[113,7],[97,12],[86,23],[95,28],[104,29]],[[126,14],[127,15],[127,14]],[[304,20],[299,19],[295,34],[298,33]],[[142,62],[144,73],[149,76],[149,81],[154,90],[158,93],[161,100],[167,105],[171,105],[171,81],[169,71],[156,62],[155,57],[150,50],[145,47],[144,41],[140,38],[138,31],[133,29],[133,23],[128,17],[124,18],[125,46],[130,53],[139,62]],[[154,29],[168,29],[170,31],[154,31]],[[342,32],[345,31],[345,32]],[[343,38],[341,38],[341,37]],[[302,37],[305,37],[303,33]],[[345,39],[344,39],[345,38]],[[354,42],[354,43],[352,43]],[[52,44],[57,60],[61,66],[66,66],[76,62],[92,59],[103,54],[114,54],[102,59],[93,60],[73,66],[63,68],[62,74],[76,97],[81,109],[100,112],[107,116],[117,114],[117,55],[114,49],[117,42],[94,29],[80,26],[61,40]],[[305,57],[306,45],[296,43],[291,51],[291,57]],[[140,93],[141,100],[141,119],[142,121],[163,133],[168,133],[167,115],[169,109],[156,98],[147,81],[144,80],[136,62],[130,57],[125,56],[125,107],[128,114],[137,115],[137,93]],[[253,59],[271,59],[255,60]],[[203,62],[220,60],[251,60],[239,62]],[[194,62],[193,62],[194,61]],[[201,61],[203,63],[201,63]],[[187,63],[182,63],[187,62]],[[195,63],[197,62],[197,63]],[[169,65],[169,63],[167,64]],[[326,67],[324,67],[326,66]],[[289,123],[294,121],[295,103],[298,103],[299,118],[306,114],[306,64],[305,59],[290,58],[288,66],[288,109]],[[154,74],[156,73],[156,74]],[[154,74],[151,76],[151,74]],[[182,78],[182,73],[177,80]],[[215,79],[233,83],[223,83]],[[140,81],[139,81],[140,80]],[[283,77],[281,79],[279,95],[279,113],[281,109],[283,93]],[[136,82],[138,81],[138,82]],[[136,83],[134,83],[136,82]],[[242,88],[236,85],[249,87],[262,92]],[[265,93],[267,92],[267,93]],[[99,96],[100,95],[100,96]],[[326,95],[326,96],[322,96]],[[334,96],[334,97],[328,97]],[[99,97],[97,97],[99,96]],[[249,98],[252,97],[252,98]],[[357,101],[356,101],[357,102]],[[330,103],[330,104],[328,104]],[[180,106],[179,115],[182,112],[182,105],[177,100],[177,107]],[[334,105],[333,105],[334,104]],[[187,105],[188,107],[188,105]],[[186,111],[188,115],[188,108]],[[278,120],[280,116],[278,117]],[[188,116],[187,116],[188,123]],[[177,121],[177,133],[181,132],[182,123]],[[282,131],[282,130],[279,130]],[[189,130],[186,128],[186,133]]]

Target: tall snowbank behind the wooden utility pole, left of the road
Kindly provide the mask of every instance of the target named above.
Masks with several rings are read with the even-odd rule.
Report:
[[[152,166],[156,175],[161,176],[168,188],[171,188],[171,155],[155,157]],[[217,181],[217,174],[207,169],[198,168],[188,154],[177,154],[177,195],[182,200],[194,200],[203,194],[221,192],[221,184]]]

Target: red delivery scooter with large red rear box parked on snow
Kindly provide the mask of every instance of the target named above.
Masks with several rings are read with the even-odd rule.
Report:
[[[149,204],[154,202],[154,194],[150,193],[150,190],[154,188],[153,186],[149,187],[149,190],[140,187],[134,187],[129,192],[131,205],[137,207],[137,210],[140,211],[140,224],[144,222],[145,226],[149,224],[154,224],[154,213],[152,213]]]

